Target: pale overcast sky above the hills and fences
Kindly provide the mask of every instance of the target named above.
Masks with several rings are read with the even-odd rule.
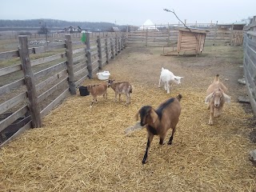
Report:
[[[70,22],[112,22],[141,26],[178,23],[232,23],[256,15],[256,0],[2,0],[0,19],[53,18]]]

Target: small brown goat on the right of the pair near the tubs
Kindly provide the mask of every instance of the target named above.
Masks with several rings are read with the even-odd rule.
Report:
[[[119,102],[121,94],[126,95],[126,104],[130,104],[130,94],[133,92],[133,88],[129,82],[114,82],[115,80],[108,80],[108,86],[110,86],[115,93],[115,102],[117,102],[117,96],[119,94]]]

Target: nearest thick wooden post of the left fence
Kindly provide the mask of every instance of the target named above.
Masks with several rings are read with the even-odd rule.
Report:
[[[19,47],[18,53],[22,62],[22,71],[26,84],[27,96],[29,98],[28,107],[30,110],[32,128],[42,127],[42,119],[38,106],[38,95],[35,88],[35,80],[33,70],[30,64],[29,46],[26,35],[18,36]]]

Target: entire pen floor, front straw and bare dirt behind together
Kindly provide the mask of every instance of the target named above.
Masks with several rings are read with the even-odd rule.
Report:
[[[162,47],[128,43],[103,70],[110,78],[133,86],[131,105],[78,93],[42,119],[43,128],[28,130],[1,149],[0,189],[10,191],[254,191],[256,170],[248,160],[254,118],[248,104],[238,103],[246,86],[242,78],[242,46],[206,46],[198,58],[161,56]],[[168,95],[158,88],[161,67],[184,76]],[[204,104],[214,75],[229,88],[230,105],[208,126]],[[100,83],[96,75],[82,85]],[[150,147],[142,166],[146,130],[124,134],[141,106],[157,107],[182,94],[182,115],[172,146]],[[168,132],[168,137],[170,132]],[[167,138],[166,138],[167,139]]]

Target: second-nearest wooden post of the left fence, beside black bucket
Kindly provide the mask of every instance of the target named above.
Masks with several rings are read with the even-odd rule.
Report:
[[[69,75],[68,81],[70,85],[70,94],[77,94],[75,90],[74,84],[74,63],[73,63],[73,49],[72,49],[72,42],[70,34],[65,35],[66,38],[66,66],[67,66],[67,73]]]

